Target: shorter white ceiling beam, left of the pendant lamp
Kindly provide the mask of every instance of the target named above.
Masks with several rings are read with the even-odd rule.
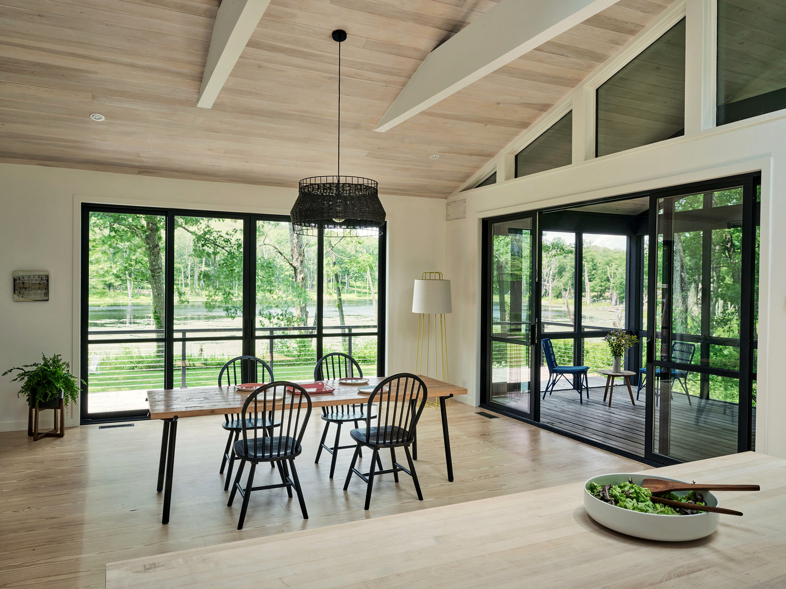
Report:
[[[223,0],[215,15],[196,106],[212,108],[270,0]]]

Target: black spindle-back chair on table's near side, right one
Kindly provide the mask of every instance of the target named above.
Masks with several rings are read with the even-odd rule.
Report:
[[[365,427],[351,430],[350,435],[358,443],[352,456],[352,463],[347,472],[347,480],[344,481],[344,491],[349,488],[352,474],[357,474],[366,483],[365,490],[365,510],[371,504],[371,489],[374,483],[374,475],[393,473],[396,482],[399,482],[399,472],[403,471],[412,477],[417,492],[417,499],[423,500],[421,485],[417,482],[415,464],[410,454],[410,445],[415,441],[415,426],[420,419],[423,408],[426,404],[427,390],[425,383],[416,375],[402,372],[398,375],[388,376],[374,388],[374,392],[369,397],[366,405],[366,413],[372,415],[374,404],[378,404],[377,416],[368,417],[365,420]],[[367,446],[373,450],[371,457],[371,470],[368,474],[363,474],[354,467],[360,455],[360,448]],[[380,461],[380,450],[390,448],[393,466],[390,470],[375,471],[377,463]],[[396,462],[395,448],[404,448],[407,463],[410,470]]]

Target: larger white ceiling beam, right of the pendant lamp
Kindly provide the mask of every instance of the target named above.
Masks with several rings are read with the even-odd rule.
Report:
[[[387,131],[616,0],[501,0],[429,53],[375,131]]]

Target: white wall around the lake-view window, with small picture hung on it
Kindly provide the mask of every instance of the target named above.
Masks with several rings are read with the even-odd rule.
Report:
[[[79,368],[80,203],[288,214],[294,188],[0,164],[0,371],[61,353]],[[383,197],[388,220],[387,371],[413,370],[413,279],[445,265],[445,202]],[[48,302],[13,302],[13,270],[48,270]],[[17,386],[0,379],[0,430],[27,426]],[[47,418],[48,419],[48,418]],[[66,424],[76,425],[78,408]]]

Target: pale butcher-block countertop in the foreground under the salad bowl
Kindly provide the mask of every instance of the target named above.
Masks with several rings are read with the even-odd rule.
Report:
[[[601,474],[601,473],[599,473]],[[703,540],[638,540],[597,525],[583,481],[255,540],[110,563],[107,589],[311,587],[784,587],[786,460],[745,452],[648,470],[760,492],[724,492]],[[676,517],[676,516],[675,516]]]

